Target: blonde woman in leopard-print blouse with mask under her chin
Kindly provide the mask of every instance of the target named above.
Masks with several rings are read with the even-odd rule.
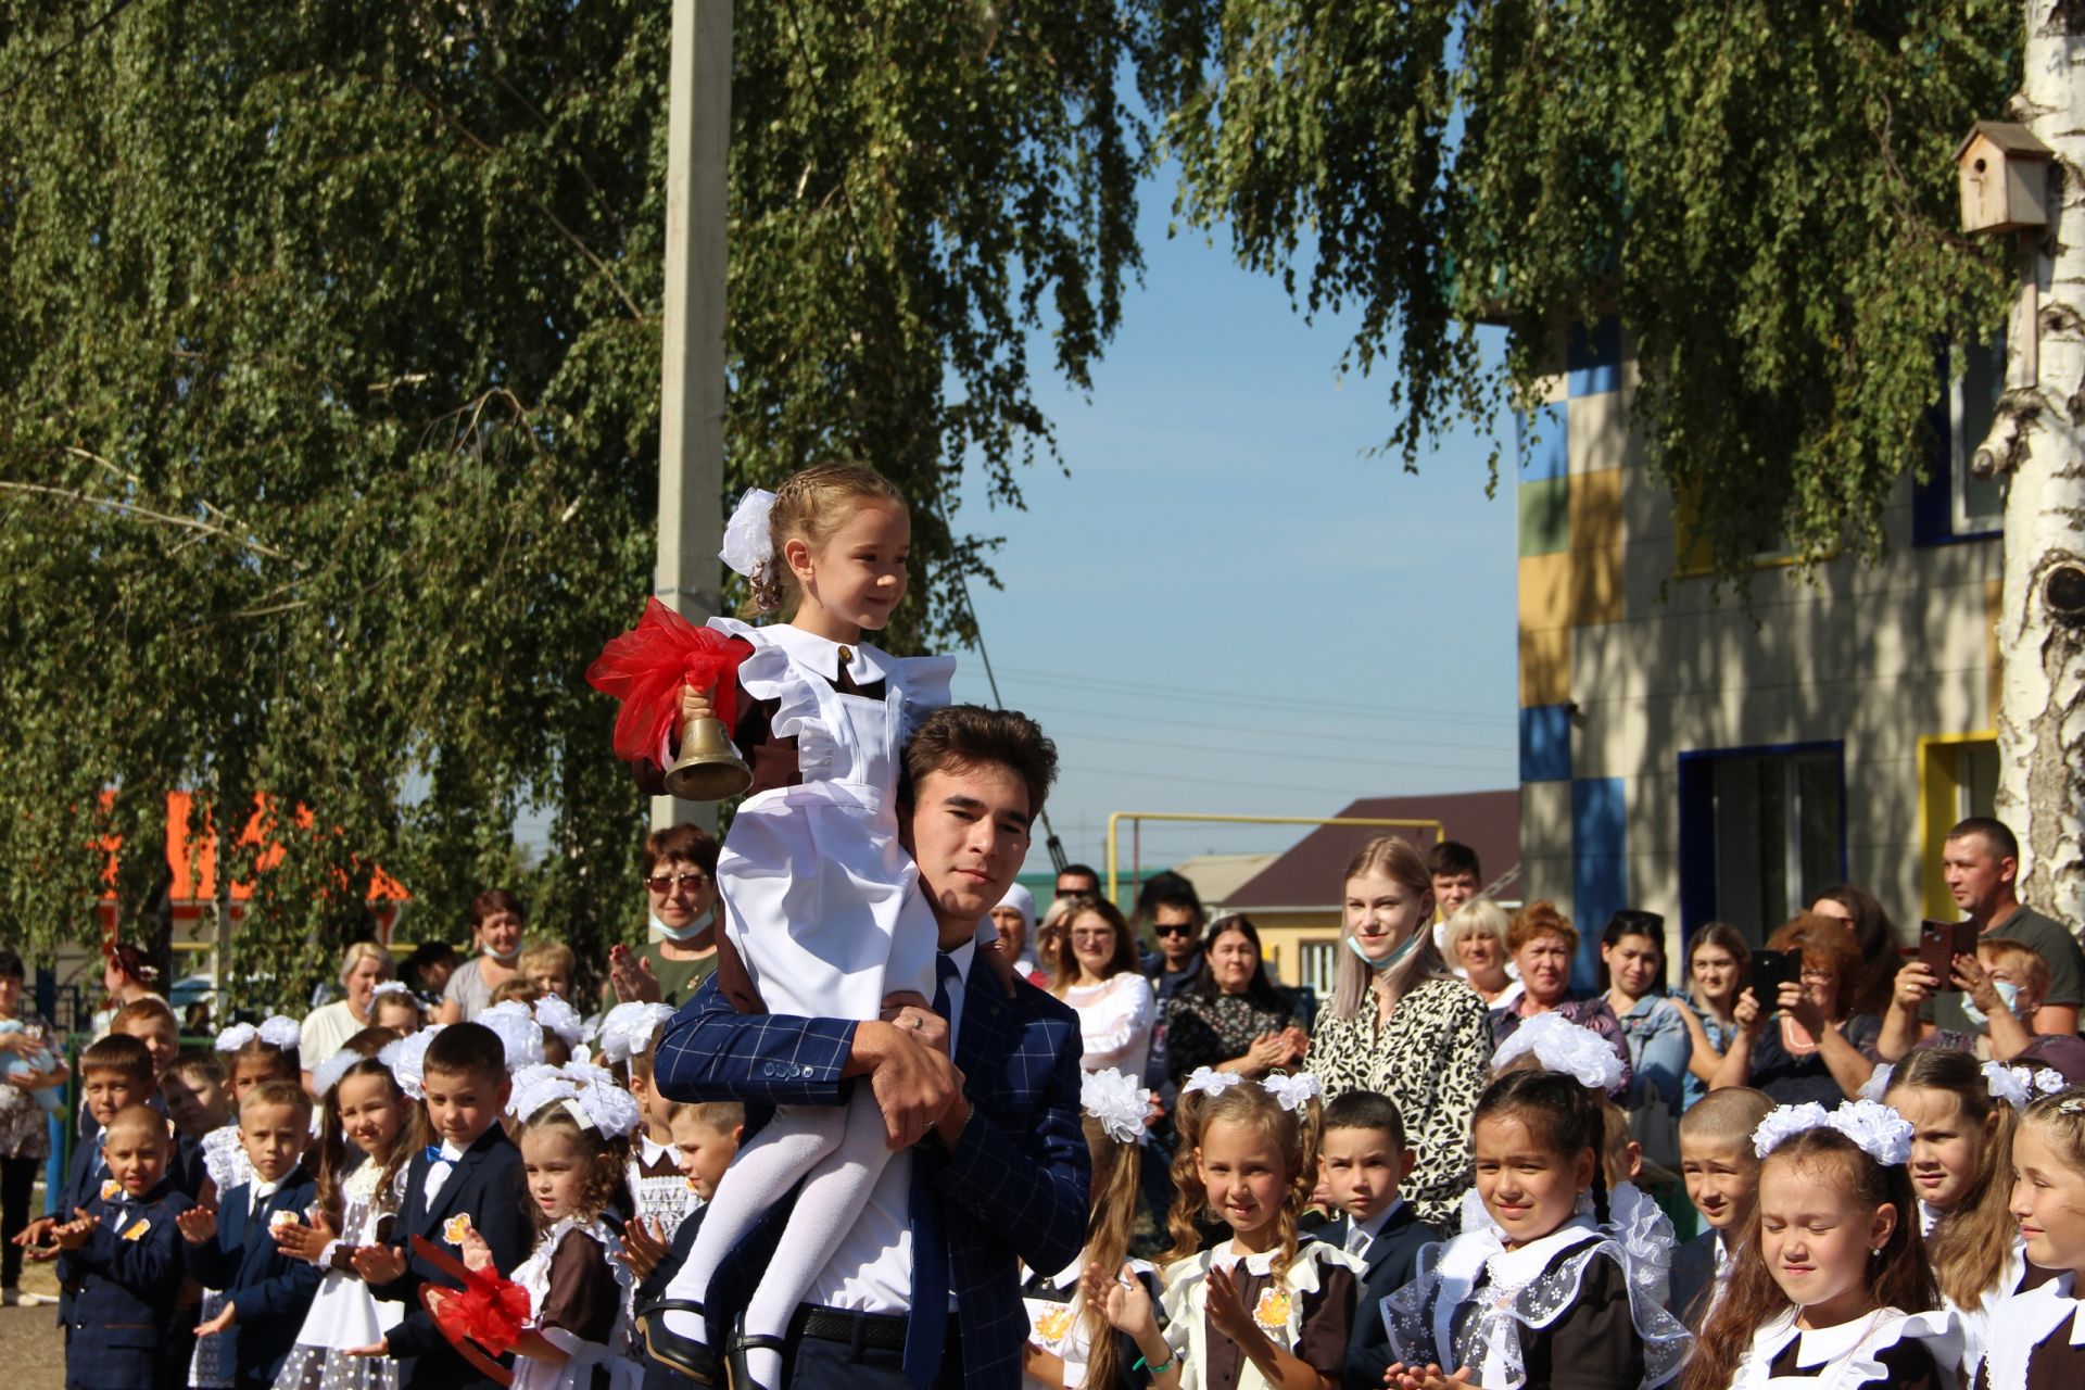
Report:
[[[1432,877],[1407,842],[1372,840],[1347,865],[1339,975],[1305,1067],[1326,1100],[1374,1090],[1397,1102],[1418,1155],[1401,1194],[1453,1234],[1470,1190],[1470,1115],[1491,1075],[1485,1000],[1432,942]]]

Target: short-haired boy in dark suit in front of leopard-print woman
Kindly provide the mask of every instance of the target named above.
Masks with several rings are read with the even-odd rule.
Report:
[[[1362,1298],[1347,1338],[1347,1384],[1380,1386],[1391,1365],[1382,1300],[1412,1282],[1420,1246],[1441,1232],[1412,1215],[1397,1186],[1412,1175],[1405,1117],[1397,1102],[1372,1090],[1349,1090],[1324,1107],[1318,1175],[1345,1213],[1318,1230],[1362,1261]]]

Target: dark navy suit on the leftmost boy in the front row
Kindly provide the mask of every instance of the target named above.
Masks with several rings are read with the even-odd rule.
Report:
[[[181,1296],[181,1232],[173,1219],[194,1207],[161,1182],[131,1200],[117,1194],[88,1205],[96,1217],[88,1244],[73,1250],[73,1317],[65,1336],[67,1390],[161,1390],[188,1380],[188,1363],[165,1355]]]

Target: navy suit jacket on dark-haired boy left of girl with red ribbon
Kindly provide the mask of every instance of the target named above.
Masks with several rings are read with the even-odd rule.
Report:
[[[425,1236],[446,1255],[461,1261],[463,1252],[442,1238],[442,1225],[450,1217],[467,1215],[471,1227],[492,1246],[492,1263],[500,1273],[513,1273],[515,1265],[530,1257],[536,1246],[536,1223],[530,1217],[528,1182],[521,1173],[521,1150],[513,1146],[507,1132],[496,1123],[477,1136],[457,1167],[442,1180],[442,1190],[427,1205],[427,1155],[413,1155],[407,1167],[404,1202],[398,1223],[392,1227],[392,1244],[407,1257],[407,1271],[392,1284],[375,1284],[371,1294],[404,1305],[404,1321],[390,1332],[390,1352],[398,1359],[398,1384],[402,1390],[425,1386],[427,1390],[484,1388],[498,1382],[486,1377],[465,1361],[434,1317],[419,1302],[423,1284],[455,1288],[457,1282],[438,1271],[427,1261],[413,1255],[413,1236]]]

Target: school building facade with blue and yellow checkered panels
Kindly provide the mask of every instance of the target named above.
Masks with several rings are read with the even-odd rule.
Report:
[[[1799,577],[1760,554],[1749,611],[1628,425],[1618,327],[1562,358],[1520,421],[1520,896],[1574,919],[1580,973],[1618,907],[1664,913],[1674,957],[1712,919],[1758,942],[1839,882],[1906,936],[1956,917],[1939,836],[1997,777],[2004,500],[1964,467],[1997,358],[1935,371],[1933,477],[1899,481],[1887,556]]]

